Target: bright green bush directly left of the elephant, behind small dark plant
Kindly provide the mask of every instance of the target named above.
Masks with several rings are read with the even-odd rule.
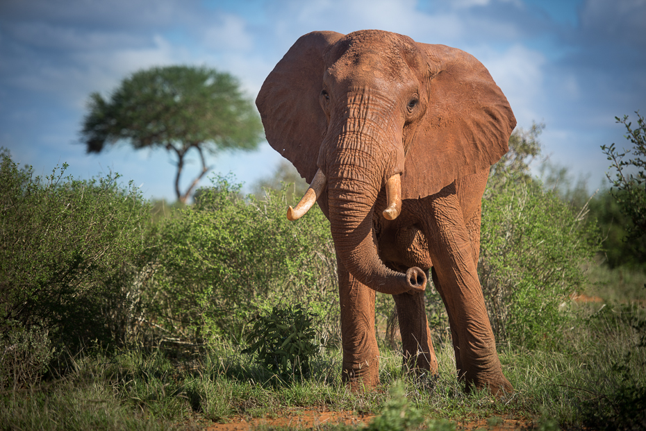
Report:
[[[336,257],[329,224],[315,207],[285,217],[284,192],[240,196],[240,185],[213,179],[191,207],[158,230],[160,271],[148,287],[158,337],[202,344],[242,341],[263,307],[307,303],[326,337],[338,333]]]

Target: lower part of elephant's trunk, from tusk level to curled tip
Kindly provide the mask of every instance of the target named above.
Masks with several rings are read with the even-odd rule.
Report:
[[[359,180],[354,166],[337,167],[335,171],[327,183],[329,219],[336,253],[346,269],[364,285],[384,294],[424,291],[426,274],[422,269],[395,272],[377,255],[372,217],[381,180],[376,184]]]

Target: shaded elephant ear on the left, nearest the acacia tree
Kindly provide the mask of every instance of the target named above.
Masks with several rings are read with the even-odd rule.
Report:
[[[333,31],[299,37],[267,76],[256,98],[267,142],[292,162],[308,183],[316,174],[327,127],[319,104],[325,71],[323,54],[341,37]]]

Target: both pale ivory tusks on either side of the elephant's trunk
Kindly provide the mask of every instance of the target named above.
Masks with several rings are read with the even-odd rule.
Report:
[[[327,178],[323,171],[319,169],[316,171],[307,192],[305,192],[296,207],[292,208],[292,205],[290,205],[287,209],[288,220],[295,221],[303,217],[324,192],[326,185]],[[401,176],[399,174],[391,176],[386,181],[386,199],[388,201],[386,210],[383,210],[381,214],[388,220],[395,220],[401,213]]]

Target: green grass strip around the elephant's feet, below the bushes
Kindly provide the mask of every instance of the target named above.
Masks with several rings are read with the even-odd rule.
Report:
[[[503,368],[516,389],[502,399],[486,392],[465,394],[449,348],[438,350],[439,378],[426,380],[404,373],[399,353],[382,350],[382,387],[370,394],[349,393],[340,381],[341,356],[334,349],[311,364],[310,378],[295,375],[290,382],[272,378],[263,366],[231,348],[183,359],[160,349],[121,350],[118,355],[80,357],[63,378],[3,394],[0,422],[7,424],[5,429],[169,429],[226,422],[233,416],[276,417],[295,407],[392,415],[394,406],[405,405],[406,412],[414,412],[406,424],[421,417],[428,428],[440,424],[434,422],[438,419],[491,417],[530,418],[536,424],[552,418],[561,426],[582,428],[591,406],[622,387],[621,370],[608,358],[636,352],[627,364],[635,370],[646,360],[643,349],[631,348],[638,341],[636,330],[626,328],[643,310],[608,307],[595,313],[586,307],[577,312],[587,323],[570,335],[582,342],[570,351],[500,349]],[[643,386],[643,369],[635,379]]]

